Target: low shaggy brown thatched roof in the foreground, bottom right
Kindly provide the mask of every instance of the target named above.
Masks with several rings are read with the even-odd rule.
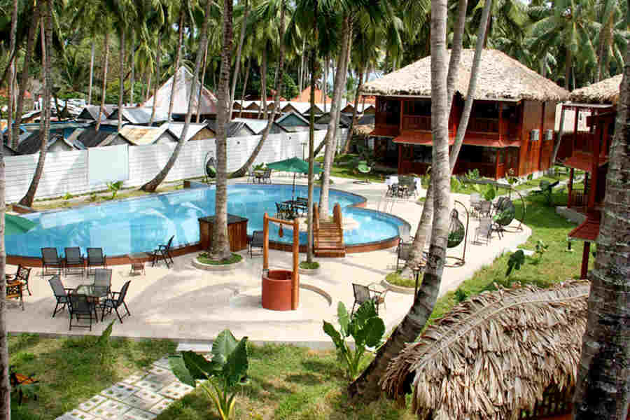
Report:
[[[409,344],[381,386],[400,398],[412,384],[413,412],[433,420],[515,420],[551,385],[570,398],[588,295],[575,281],[470,297]]]

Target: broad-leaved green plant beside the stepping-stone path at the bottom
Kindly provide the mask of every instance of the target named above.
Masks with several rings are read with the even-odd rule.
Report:
[[[197,380],[214,401],[222,420],[234,414],[237,385],[247,384],[247,337],[240,341],[230,330],[223,330],[212,343],[212,359],[194,351],[182,351],[169,356],[173,373],[184,384],[195,386]]]

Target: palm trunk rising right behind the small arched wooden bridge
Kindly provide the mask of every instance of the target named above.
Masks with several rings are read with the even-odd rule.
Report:
[[[332,90],[332,104],[330,104],[330,122],[328,123],[328,131],[324,137],[324,167],[322,174],[321,193],[319,195],[319,218],[322,221],[328,219],[330,211],[328,211],[328,190],[330,188],[330,168],[332,167],[332,158],[335,156],[335,116],[341,102],[341,94],[343,92],[344,71],[346,57],[348,55],[348,41],[350,35],[350,17],[344,15],[342,23],[342,45],[337,58],[337,73],[335,74],[335,86]],[[325,102],[325,97],[323,98]]]

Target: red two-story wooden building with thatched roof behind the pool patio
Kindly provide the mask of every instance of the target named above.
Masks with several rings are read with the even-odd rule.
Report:
[[[463,50],[449,116],[454,142],[475,50]],[[374,151],[398,163],[399,174],[424,174],[431,162],[430,57],[365,83],[363,94],[377,97]],[[549,168],[554,148],[556,104],[568,92],[498,50],[484,50],[475,102],[454,169],[479,169],[503,178]]]

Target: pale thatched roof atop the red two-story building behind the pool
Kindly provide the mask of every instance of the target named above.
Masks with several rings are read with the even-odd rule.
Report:
[[[448,52],[450,55],[450,51]],[[468,92],[470,68],[475,50],[461,52],[461,61],[455,91],[464,97]],[[447,60],[448,61],[448,60]],[[431,57],[424,57],[393,73],[365,83],[363,94],[376,95],[411,95],[430,97],[431,95]],[[536,101],[561,101],[568,97],[568,92],[551,80],[528,69],[517,60],[498,50],[484,50],[475,99],[533,99]]]

